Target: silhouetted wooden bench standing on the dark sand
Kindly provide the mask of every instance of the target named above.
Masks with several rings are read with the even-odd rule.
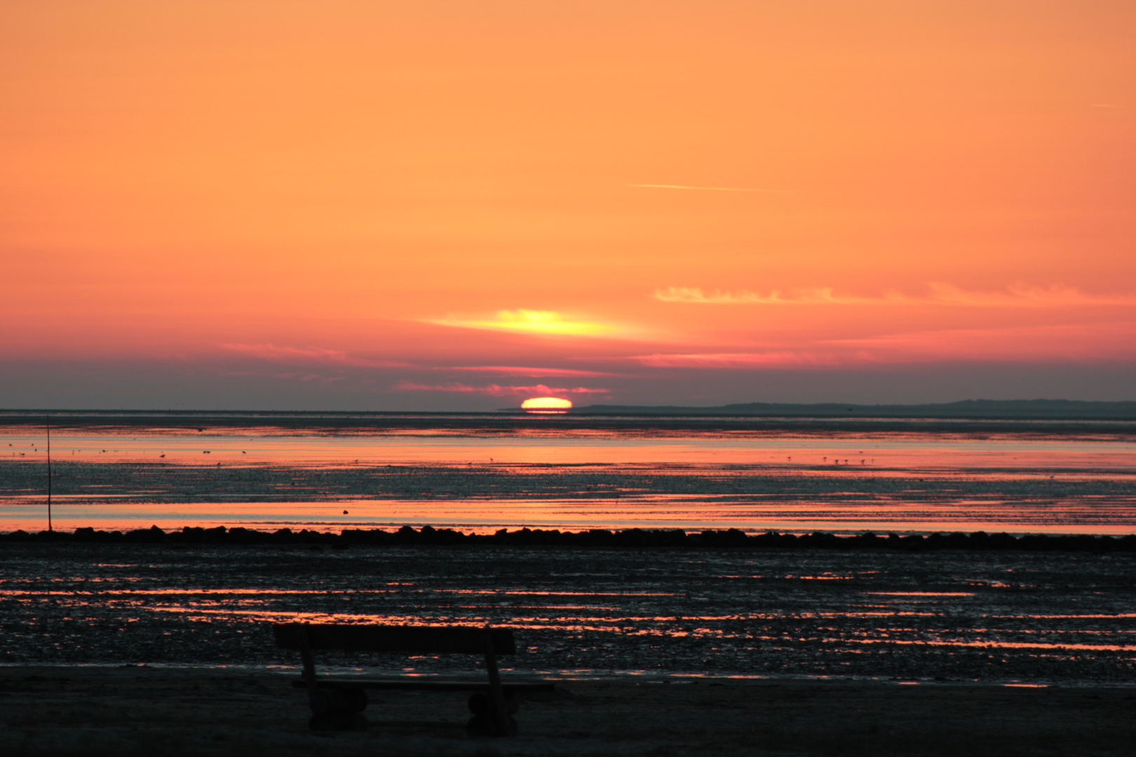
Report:
[[[311,705],[311,727],[315,730],[360,729],[367,726],[362,710],[367,707],[367,689],[402,689],[429,691],[473,691],[466,724],[477,735],[512,735],[517,732],[516,695],[521,691],[551,691],[551,681],[502,683],[498,672],[499,655],[517,654],[510,629],[468,625],[378,625],[345,623],[277,623],[273,625],[276,646],[298,649],[303,675],[294,681],[308,690]],[[437,680],[402,676],[365,680],[316,675],[312,651],[384,651],[404,655],[482,655],[487,680]]]

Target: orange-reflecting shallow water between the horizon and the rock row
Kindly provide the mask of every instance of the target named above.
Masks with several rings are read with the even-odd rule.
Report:
[[[53,525],[1136,532],[1133,423],[195,418],[57,426]],[[0,530],[41,530],[45,434],[17,420]]]

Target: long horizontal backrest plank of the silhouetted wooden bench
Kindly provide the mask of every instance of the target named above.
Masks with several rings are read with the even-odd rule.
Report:
[[[340,623],[276,623],[276,646],[300,649],[296,631],[303,629],[309,649],[390,651],[407,655],[517,654],[511,629],[470,625],[348,625]],[[492,649],[486,649],[486,636]]]

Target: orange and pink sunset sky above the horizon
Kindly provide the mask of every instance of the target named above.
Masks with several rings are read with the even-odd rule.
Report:
[[[1136,2],[0,5],[0,406],[1136,399]]]

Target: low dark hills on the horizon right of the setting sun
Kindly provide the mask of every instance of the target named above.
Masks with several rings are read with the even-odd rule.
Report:
[[[1136,402],[1081,399],[963,399],[920,405],[852,403],[791,404],[746,402],[715,407],[679,405],[585,405],[573,414],[600,415],[754,415],[808,418],[934,418],[962,420],[1136,420]]]

